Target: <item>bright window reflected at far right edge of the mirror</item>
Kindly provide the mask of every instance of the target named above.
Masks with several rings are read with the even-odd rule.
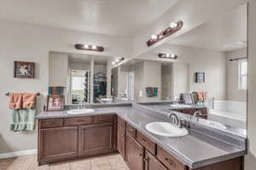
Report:
[[[238,77],[238,88],[242,90],[247,89],[247,59],[239,60],[239,77]]]

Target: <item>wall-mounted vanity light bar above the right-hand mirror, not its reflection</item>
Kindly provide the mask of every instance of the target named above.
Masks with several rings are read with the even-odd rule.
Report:
[[[159,34],[153,34],[151,38],[146,42],[147,46],[150,47],[156,42],[160,42],[162,39],[171,36],[175,32],[179,31],[183,27],[183,21],[171,22],[170,26],[166,30],[161,31]]]

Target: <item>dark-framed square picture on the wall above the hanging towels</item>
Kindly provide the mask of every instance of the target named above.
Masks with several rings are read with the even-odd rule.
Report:
[[[15,61],[14,63],[15,78],[34,78],[35,63],[26,61]]]

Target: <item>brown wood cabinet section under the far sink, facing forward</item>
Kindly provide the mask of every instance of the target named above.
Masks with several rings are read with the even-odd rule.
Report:
[[[44,119],[38,125],[39,165],[116,151],[114,115]]]

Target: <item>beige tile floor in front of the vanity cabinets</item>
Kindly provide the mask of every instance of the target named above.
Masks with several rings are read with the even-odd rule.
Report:
[[[0,159],[0,170],[129,170],[119,154],[62,161],[38,167],[36,155]]]

